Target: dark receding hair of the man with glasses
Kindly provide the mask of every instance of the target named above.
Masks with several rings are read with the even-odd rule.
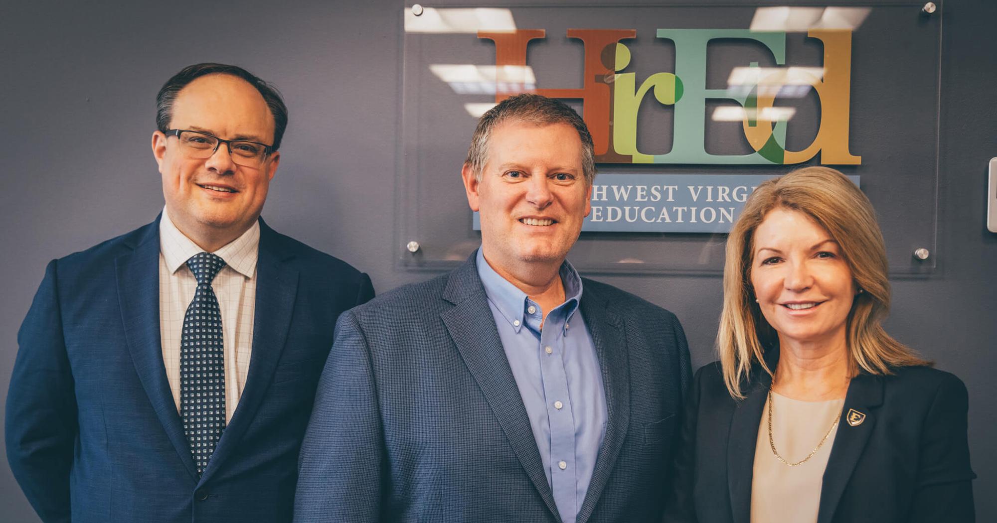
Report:
[[[166,132],[169,129],[169,121],[173,118],[173,101],[176,100],[176,94],[190,82],[206,75],[229,75],[241,78],[256,88],[273,115],[273,150],[280,148],[280,139],[284,136],[284,130],[287,129],[287,106],[284,105],[284,99],[281,98],[280,92],[277,91],[276,87],[260,80],[252,73],[238,66],[225,64],[205,63],[187,66],[166,81],[160,94],[156,96],[156,127],[160,131]]]

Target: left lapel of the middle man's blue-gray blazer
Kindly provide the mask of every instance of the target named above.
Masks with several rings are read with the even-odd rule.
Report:
[[[478,276],[475,255],[451,273],[443,298],[455,305],[440,315],[447,331],[485,394],[523,470],[559,522],[560,514],[547,484],[529,416],[492,321],[492,309]]]

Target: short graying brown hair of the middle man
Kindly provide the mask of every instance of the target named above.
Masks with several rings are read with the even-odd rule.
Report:
[[[592,134],[588,132],[585,121],[563,102],[529,93],[501,101],[478,121],[478,128],[471,137],[471,148],[468,149],[468,158],[465,160],[465,163],[471,165],[475,177],[482,179],[482,169],[488,163],[489,137],[492,131],[509,120],[536,126],[567,124],[573,127],[581,138],[581,167],[585,181],[591,185],[595,179],[595,160]]]

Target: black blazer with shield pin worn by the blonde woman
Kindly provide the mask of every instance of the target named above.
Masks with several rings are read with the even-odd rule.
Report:
[[[778,350],[767,356],[770,369]],[[964,523],[973,515],[966,387],[927,367],[861,373],[844,396],[818,523]],[[720,364],[696,372],[664,520],[749,523],[759,423],[772,377],[755,366],[735,400]],[[847,422],[848,410],[865,414]]]

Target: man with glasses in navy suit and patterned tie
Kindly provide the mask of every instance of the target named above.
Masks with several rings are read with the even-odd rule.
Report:
[[[367,275],[261,219],[287,109],[198,64],[157,99],[166,207],[52,261],[18,334],[7,457],[46,522],[289,521],[330,327]]]

